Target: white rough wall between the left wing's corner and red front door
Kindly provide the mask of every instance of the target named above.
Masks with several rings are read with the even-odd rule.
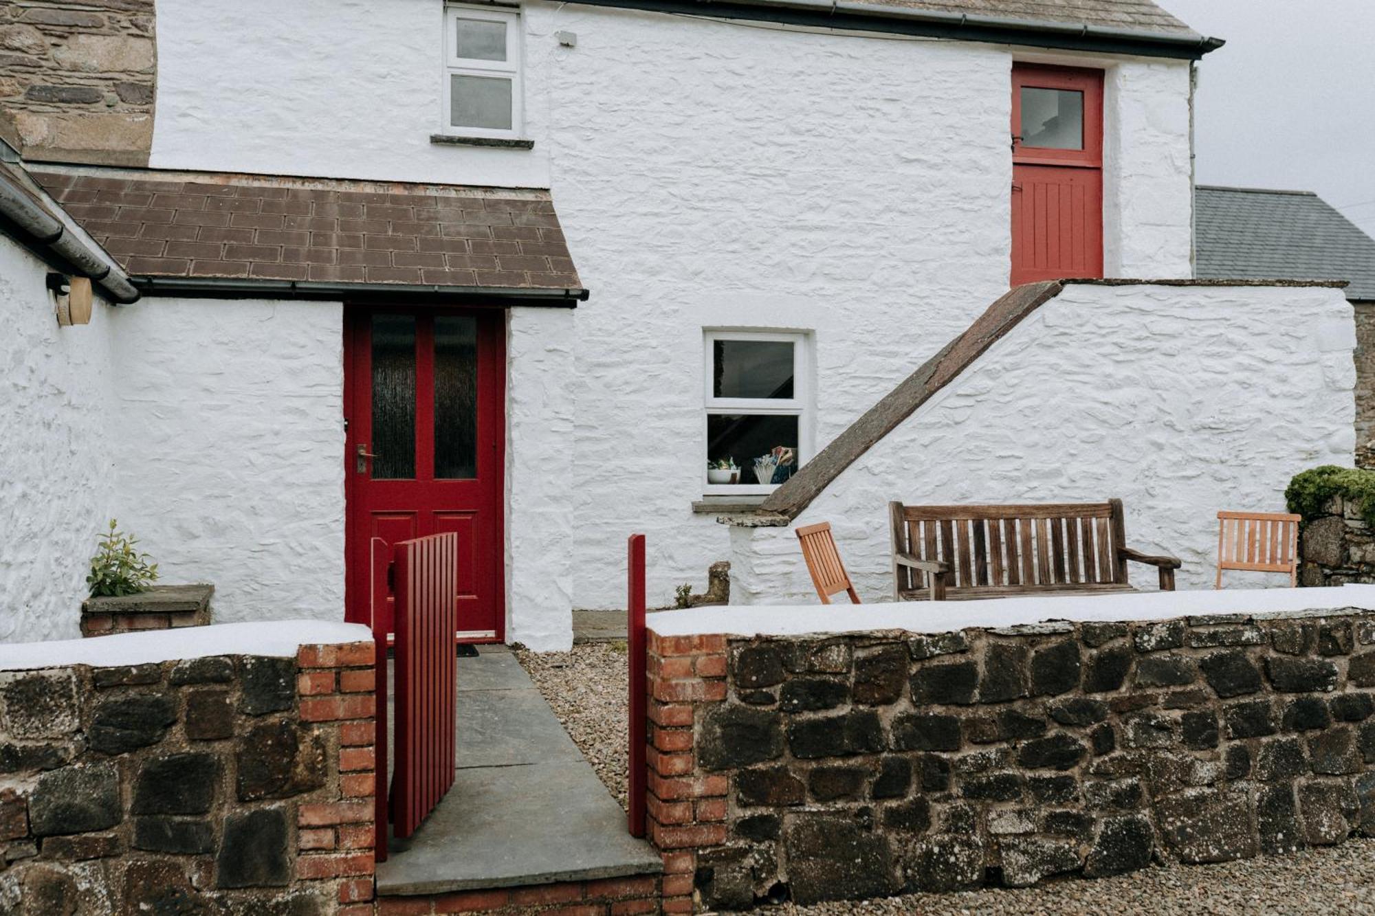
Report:
[[[117,514],[162,579],[213,583],[217,623],[341,620],[342,307],[144,298],[110,330]]]

